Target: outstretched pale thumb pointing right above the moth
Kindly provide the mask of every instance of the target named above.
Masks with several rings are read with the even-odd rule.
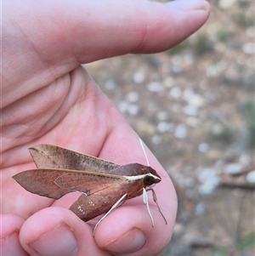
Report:
[[[15,61],[6,58],[5,77],[7,85],[26,82],[22,92],[16,92],[19,94],[24,90],[27,94],[42,78],[44,84],[54,81],[80,63],[171,48],[199,29],[209,15],[204,0],[167,4],[128,0],[31,3],[4,3],[4,15],[10,21],[4,20],[7,31],[3,31],[3,53],[15,56]],[[22,77],[14,76],[14,71]]]

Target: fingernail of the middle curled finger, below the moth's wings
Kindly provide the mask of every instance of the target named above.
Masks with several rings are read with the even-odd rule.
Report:
[[[42,256],[77,254],[77,240],[65,223],[60,223],[53,230],[44,233],[29,246]]]

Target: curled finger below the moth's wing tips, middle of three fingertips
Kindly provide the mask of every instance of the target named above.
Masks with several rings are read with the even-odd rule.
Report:
[[[109,255],[94,242],[91,227],[65,208],[44,208],[26,220],[20,243],[31,255]]]

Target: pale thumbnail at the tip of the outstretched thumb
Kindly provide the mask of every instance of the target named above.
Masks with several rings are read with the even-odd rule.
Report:
[[[205,0],[175,0],[173,2],[168,2],[169,5],[173,9],[180,10],[195,10],[195,9],[204,9],[207,10],[209,7],[209,3]]]

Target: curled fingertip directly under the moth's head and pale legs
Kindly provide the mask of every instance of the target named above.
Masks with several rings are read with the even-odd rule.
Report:
[[[151,208],[151,213],[156,217],[157,209]],[[99,224],[95,240],[99,247],[113,255],[152,256],[166,247],[172,232],[173,225],[166,225],[160,218],[155,219],[152,227],[145,206],[126,206],[125,203]]]

